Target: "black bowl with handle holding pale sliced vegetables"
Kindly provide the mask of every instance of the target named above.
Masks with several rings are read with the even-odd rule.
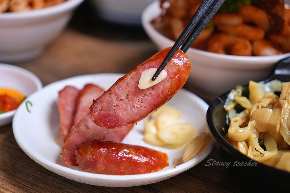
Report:
[[[273,79],[280,79],[282,82],[290,81],[290,58],[278,62],[269,78],[262,82]],[[247,96],[248,86],[244,86],[243,91],[244,96]],[[229,128],[226,111],[223,107],[228,94],[229,92],[214,99],[206,113],[206,124],[215,146],[220,152],[222,164],[235,179],[245,186],[251,186],[251,188],[254,187],[258,190],[261,188],[265,190],[288,188],[289,190],[290,172],[255,162],[235,149],[224,138]]]

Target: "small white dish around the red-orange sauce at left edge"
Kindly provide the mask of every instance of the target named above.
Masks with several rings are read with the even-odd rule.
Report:
[[[0,63],[0,88],[11,88],[26,97],[42,88],[39,78],[32,72],[10,64]],[[0,127],[12,122],[15,110],[0,114]]]

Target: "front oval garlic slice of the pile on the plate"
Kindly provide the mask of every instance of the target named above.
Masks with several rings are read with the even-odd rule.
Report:
[[[196,131],[190,124],[176,123],[157,131],[157,136],[167,144],[187,143],[196,136]]]

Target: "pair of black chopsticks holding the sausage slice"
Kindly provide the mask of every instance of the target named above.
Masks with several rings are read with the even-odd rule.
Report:
[[[214,16],[214,14],[218,11],[220,6],[222,6],[222,3],[224,3],[224,1],[225,0],[204,0],[201,3],[200,7],[197,9],[189,23],[186,25],[186,27],[178,37],[177,41],[172,46],[171,50],[168,52],[167,56],[165,57],[159,68],[156,70],[155,74],[152,77],[153,81],[158,77],[160,72],[166,66],[168,61],[173,57],[175,52],[180,48],[180,46],[187,37],[188,38],[180,49],[183,52],[186,52],[190,48],[195,39],[199,36],[199,34]]]

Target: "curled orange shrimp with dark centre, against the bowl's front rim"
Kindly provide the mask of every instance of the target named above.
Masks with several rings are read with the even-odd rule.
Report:
[[[209,52],[238,56],[251,56],[253,51],[249,40],[224,33],[209,38],[207,49]]]

